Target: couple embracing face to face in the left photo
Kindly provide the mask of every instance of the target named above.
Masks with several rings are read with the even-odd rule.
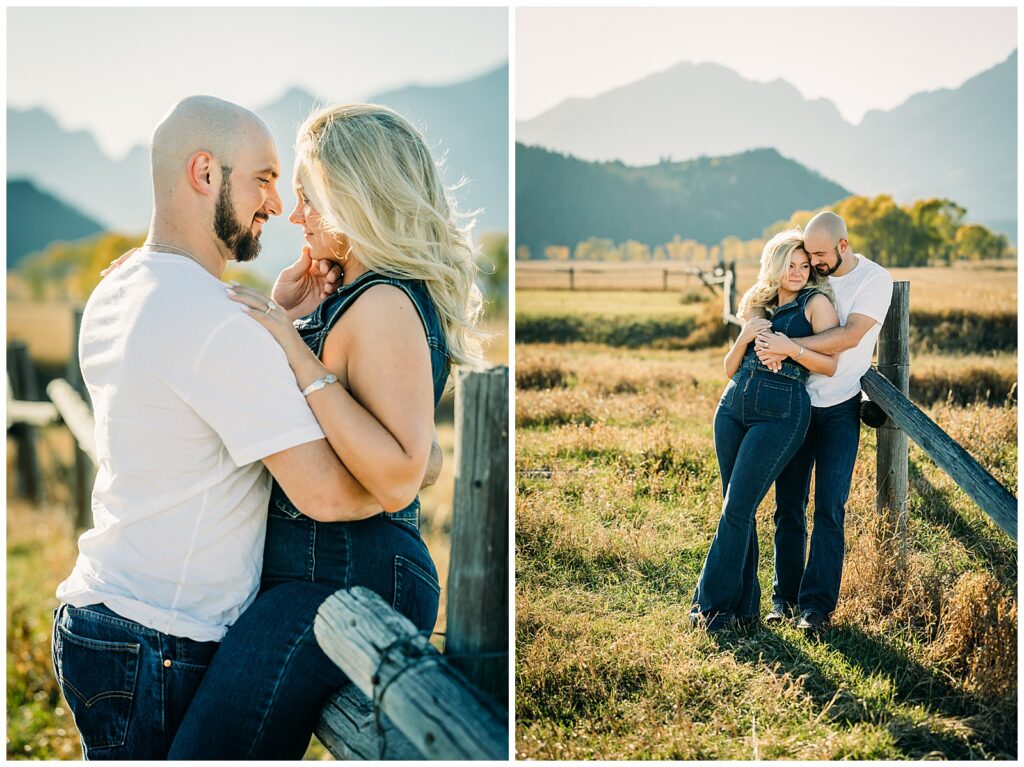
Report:
[[[86,759],[299,759],[346,682],[312,632],[330,594],[364,586],[433,628],[417,494],[451,365],[480,360],[473,252],[423,137],[382,106],[299,129],[306,247],[272,300],[219,280],[283,212],[263,122],[186,98],[152,165],[146,242],[82,319],[95,526],[53,666]]]

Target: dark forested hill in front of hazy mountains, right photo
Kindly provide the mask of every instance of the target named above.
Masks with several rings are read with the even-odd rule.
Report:
[[[537,256],[591,237],[649,245],[674,236],[743,240],[850,193],[773,148],[631,167],[516,144],[516,244]]]

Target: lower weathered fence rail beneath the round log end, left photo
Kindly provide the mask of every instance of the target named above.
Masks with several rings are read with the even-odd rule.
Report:
[[[324,707],[316,737],[336,759],[422,759],[390,719],[382,715],[378,720],[373,702],[354,684],[342,687]]]

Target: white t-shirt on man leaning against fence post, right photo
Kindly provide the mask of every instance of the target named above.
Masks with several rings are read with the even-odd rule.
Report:
[[[807,379],[807,393],[815,408],[829,408],[845,402],[860,391],[860,379],[871,367],[874,342],[889,312],[893,297],[893,279],[888,271],[860,254],[853,255],[857,265],[843,276],[830,276],[836,292],[839,322],[846,325],[850,314],[864,314],[877,321],[860,343],[839,355],[834,376],[812,373]]]

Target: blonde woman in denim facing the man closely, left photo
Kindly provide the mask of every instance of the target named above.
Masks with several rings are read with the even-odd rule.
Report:
[[[474,254],[423,137],[394,112],[324,109],[296,150],[289,220],[307,250],[274,300],[242,287],[232,297],[279,341],[331,445],[383,512],[317,522],[273,486],[260,595],[228,630],[172,759],[302,757],[346,681],[312,633],[334,591],[370,588],[424,632],[437,614],[416,496],[450,367],[480,360]],[[322,286],[294,276],[327,259],[341,264],[341,287],[316,305]]]

